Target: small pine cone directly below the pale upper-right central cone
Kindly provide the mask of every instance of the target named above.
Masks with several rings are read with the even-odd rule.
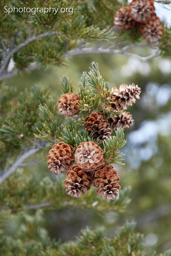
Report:
[[[125,130],[126,128],[129,128],[134,123],[134,120],[132,119],[132,115],[130,115],[130,112],[123,112],[119,115],[113,116],[113,122],[111,123],[111,127],[113,130],[116,130],[116,128],[122,128]]]

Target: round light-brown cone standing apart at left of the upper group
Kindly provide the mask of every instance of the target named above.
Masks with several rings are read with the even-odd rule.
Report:
[[[76,93],[65,93],[57,102],[58,111],[64,116],[75,116],[79,112],[80,98]]]

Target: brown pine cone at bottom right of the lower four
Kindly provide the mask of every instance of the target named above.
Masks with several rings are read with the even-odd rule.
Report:
[[[113,166],[101,166],[101,169],[94,173],[94,177],[93,186],[96,187],[96,193],[102,195],[105,201],[118,197],[120,178]]]

